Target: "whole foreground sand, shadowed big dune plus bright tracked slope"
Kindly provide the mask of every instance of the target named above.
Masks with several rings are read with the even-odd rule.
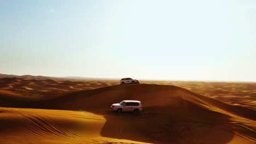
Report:
[[[111,104],[125,99],[142,101],[144,111],[141,115],[110,112]],[[21,103],[20,100],[1,98],[0,102],[0,106],[5,107],[36,108],[0,110],[0,121],[10,127],[5,128],[9,133],[5,130],[1,133],[6,142],[12,140],[9,135],[20,137],[21,131],[25,130],[31,139],[39,143],[256,142],[254,109],[229,105],[176,86],[117,85],[72,92],[47,100]],[[19,124],[18,121],[20,125],[27,126],[12,126],[11,122]],[[22,140],[17,138],[16,142]]]

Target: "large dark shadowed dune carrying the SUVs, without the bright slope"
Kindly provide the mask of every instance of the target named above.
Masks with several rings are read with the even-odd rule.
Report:
[[[111,112],[122,100],[142,101],[143,112]],[[117,85],[73,92],[48,100],[2,99],[8,107],[92,112],[106,119],[100,135],[149,143],[228,143],[255,141],[256,112],[168,85]],[[51,111],[51,110],[49,110]],[[76,127],[79,131],[79,127]]]

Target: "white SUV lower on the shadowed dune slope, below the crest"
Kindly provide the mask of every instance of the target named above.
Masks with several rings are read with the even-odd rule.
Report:
[[[137,100],[123,100],[118,104],[112,104],[110,107],[113,111],[117,111],[118,113],[132,111],[137,114],[142,111],[141,101]]]

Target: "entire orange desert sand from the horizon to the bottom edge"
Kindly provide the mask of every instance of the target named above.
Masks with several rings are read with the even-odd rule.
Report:
[[[112,112],[122,100],[143,112]],[[0,79],[0,143],[255,142],[253,82]]]

